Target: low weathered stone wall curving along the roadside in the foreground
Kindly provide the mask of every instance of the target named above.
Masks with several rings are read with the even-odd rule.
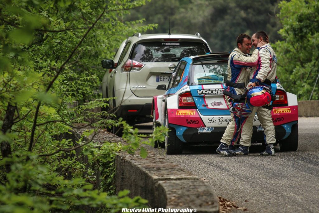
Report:
[[[62,137],[77,141],[88,129],[90,127],[76,129],[72,135]],[[122,138],[104,130],[93,140],[102,141],[125,143]],[[115,168],[116,193],[128,189],[130,197],[141,196],[153,209],[188,208],[197,209],[196,213],[219,212],[217,196],[211,186],[164,157],[152,152],[146,158],[140,157],[138,152],[136,155],[119,152],[115,157]]]

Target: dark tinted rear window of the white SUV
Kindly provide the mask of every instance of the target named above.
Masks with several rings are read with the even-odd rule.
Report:
[[[209,52],[200,42],[144,42],[136,44],[132,59],[139,62],[172,62],[174,57],[203,55]]]

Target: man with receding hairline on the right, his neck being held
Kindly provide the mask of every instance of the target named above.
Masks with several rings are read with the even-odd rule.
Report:
[[[271,89],[271,82],[273,82],[276,78],[277,57],[269,43],[263,46],[260,45],[260,43],[264,41],[268,41],[268,36],[265,32],[259,31],[253,34],[252,42],[256,49],[259,49],[259,53],[258,63],[256,69],[250,74],[250,83],[248,84],[248,87],[266,86]],[[271,107],[254,107],[252,111],[253,113],[251,114],[253,114],[253,116],[249,116],[246,123],[249,123],[250,129],[253,128],[252,121],[256,112],[264,129],[264,139],[267,144],[265,151],[260,153],[260,155],[274,155],[275,151],[273,145],[276,143],[276,139],[275,126],[271,119]],[[248,127],[247,124],[246,127]],[[251,139],[251,136],[252,131],[247,137]],[[241,146],[238,149],[230,150],[230,153],[236,155],[247,155],[247,152],[245,152],[246,149],[248,150],[247,144],[244,144],[241,141],[240,144]]]

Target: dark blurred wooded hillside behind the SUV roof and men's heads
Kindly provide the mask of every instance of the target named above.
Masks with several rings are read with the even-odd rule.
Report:
[[[213,52],[229,52],[236,47],[241,33],[252,35],[263,30],[271,42],[280,39],[275,12],[279,0],[161,0],[135,9],[128,20],[145,18],[145,23],[158,23],[148,33],[168,33],[171,15],[171,33],[199,32]]]

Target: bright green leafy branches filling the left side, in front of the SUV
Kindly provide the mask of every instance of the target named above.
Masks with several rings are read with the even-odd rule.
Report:
[[[156,27],[142,25],[143,20],[123,21],[130,9],[143,4],[145,0],[0,3],[0,212],[145,207],[147,201],[131,199],[127,191],[115,195],[114,158],[123,149],[120,143],[62,137],[74,123],[94,128],[83,133],[88,138],[103,128],[126,125],[96,110],[109,100],[96,99],[103,75],[100,60],[112,57],[127,36]],[[130,153],[142,143],[136,137],[129,138]]]

